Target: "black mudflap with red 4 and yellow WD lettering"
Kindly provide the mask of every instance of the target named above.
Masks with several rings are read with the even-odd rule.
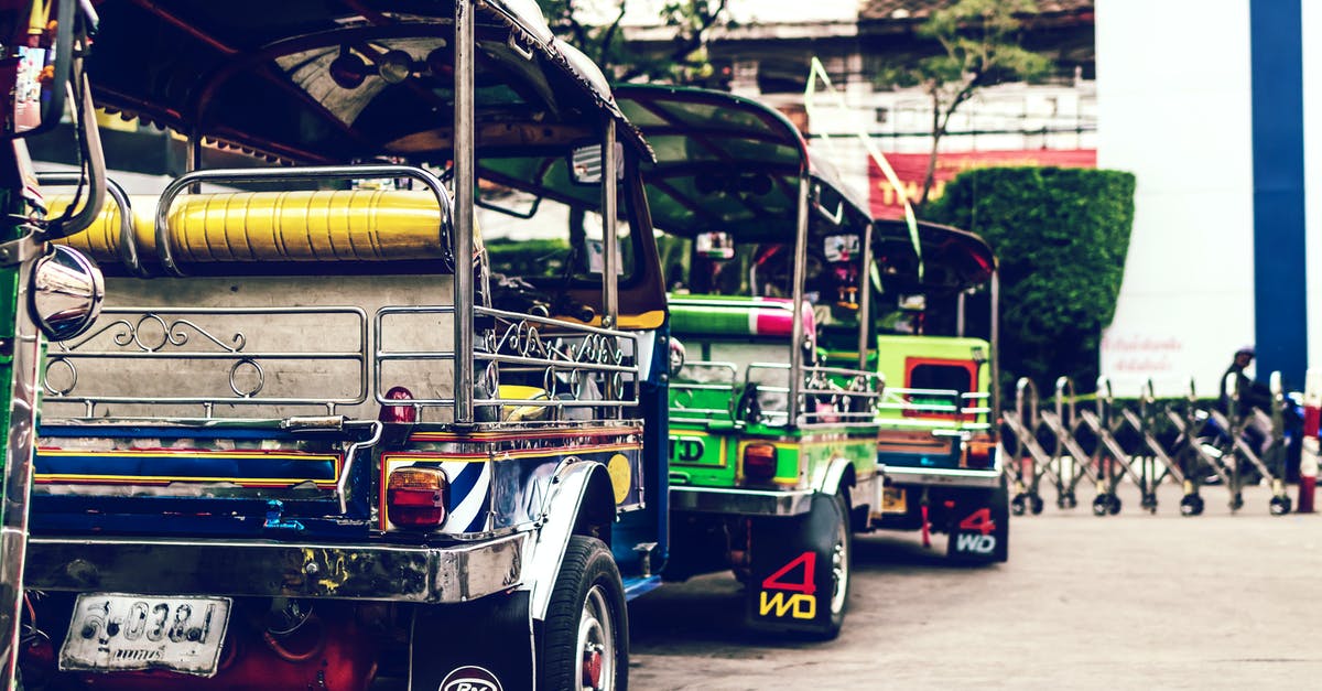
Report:
[[[832,621],[832,556],[839,514],[836,498],[813,496],[813,508],[792,518],[752,523],[748,625],[765,631],[822,634]]]

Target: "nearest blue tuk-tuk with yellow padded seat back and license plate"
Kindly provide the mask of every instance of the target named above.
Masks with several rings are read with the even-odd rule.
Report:
[[[111,298],[41,372],[25,678],[624,688],[669,346],[598,68],[522,0],[97,9],[193,169],[67,241]]]

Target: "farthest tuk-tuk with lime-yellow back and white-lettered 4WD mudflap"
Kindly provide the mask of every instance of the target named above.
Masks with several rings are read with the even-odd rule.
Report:
[[[878,462],[886,490],[873,524],[948,533],[965,561],[1009,557],[1010,507],[997,397],[997,262],[974,233],[903,221],[874,229],[869,361],[886,373]],[[921,270],[919,269],[921,266]],[[973,334],[986,334],[978,338]],[[858,351],[834,353],[851,360]]]

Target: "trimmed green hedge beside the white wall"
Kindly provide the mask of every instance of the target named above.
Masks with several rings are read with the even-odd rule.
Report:
[[[1043,394],[1069,375],[1092,391],[1134,221],[1134,176],[1088,168],[978,168],[927,209],[981,234],[1001,262],[1002,385]]]

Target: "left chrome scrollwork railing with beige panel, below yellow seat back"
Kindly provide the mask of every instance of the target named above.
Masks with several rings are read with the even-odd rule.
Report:
[[[328,328],[356,344],[308,348],[333,340],[321,338]],[[200,405],[202,417],[217,405],[334,414],[368,398],[366,336],[357,307],[107,307],[89,335],[50,346],[42,387],[46,402],[82,405],[86,417],[110,405],[115,414],[161,405]],[[79,369],[90,361],[111,365]]]

